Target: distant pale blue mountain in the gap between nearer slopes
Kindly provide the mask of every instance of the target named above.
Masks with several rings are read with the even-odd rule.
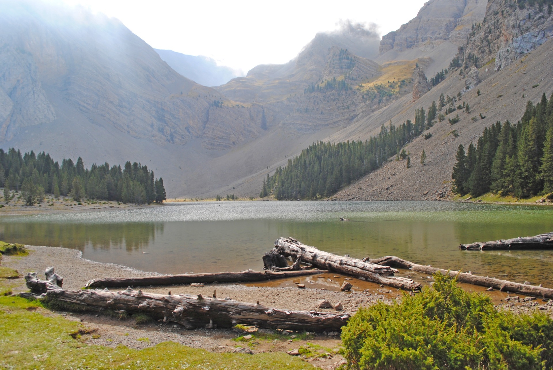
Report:
[[[171,68],[200,85],[219,86],[238,76],[237,71],[226,66],[218,66],[215,59],[207,56],[186,55],[173,50],[154,50]]]

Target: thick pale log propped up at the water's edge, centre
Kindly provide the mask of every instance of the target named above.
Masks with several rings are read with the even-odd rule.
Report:
[[[398,270],[389,266],[377,265],[371,262],[363,262],[357,258],[341,257],[336,256],[336,254],[319,251],[319,249],[306,246],[294,238],[279,238],[275,242],[275,251],[283,256],[301,258],[302,261],[314,264],[319,268],[365,278],[378,284],[406,290],[419,290],[422,288],[422,285],[414,280],[393,276]]]

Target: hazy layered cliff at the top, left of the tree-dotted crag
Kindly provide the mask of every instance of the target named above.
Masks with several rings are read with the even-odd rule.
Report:
[[[444,41],[466,43],[473,23],[481,22],[487,0],[430,0],[415,18],[382,37],[379,54],[389,50],[433,49]]]

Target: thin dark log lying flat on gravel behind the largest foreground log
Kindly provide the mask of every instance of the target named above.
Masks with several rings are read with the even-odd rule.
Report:
[[[157,275],[136,278],[103,278],[90,280],[88,283],[85,284],[85,288],[117,288],[121,286],[175,285],[213,282],[262,282],[263,280],[294,278],[305,275],[322,274],[325,272],[326,271],[317,269],[283,272],[245,270],[241,272]]]

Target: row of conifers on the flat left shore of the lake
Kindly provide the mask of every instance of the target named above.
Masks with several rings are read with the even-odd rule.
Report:
[[[161,203],[165,200],[163,179],[155,179],[148,166],[127,161],[124,168],[106,162],[85,169],[82,158],[74,164],[64,159],[61,165],[50,154],[35,155],[33,151],[21,154],[14,148],[0,149],[0,185],[4,199],[9,190],[21,191],[25,204],[40,202],[46,193],[55,197],[71,196],[75,201],[98,199],[124,203]]]

